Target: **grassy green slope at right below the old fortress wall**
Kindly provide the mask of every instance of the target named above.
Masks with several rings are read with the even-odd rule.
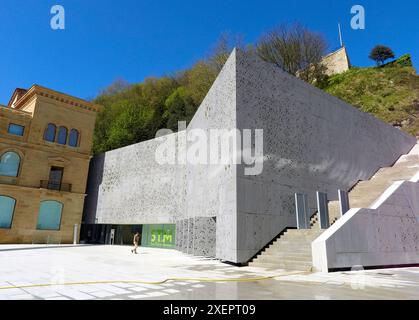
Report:
[[[382,67],[352,68],[331,76],[322,89],[405,132],[419,135],[419,76],[410,55]]]

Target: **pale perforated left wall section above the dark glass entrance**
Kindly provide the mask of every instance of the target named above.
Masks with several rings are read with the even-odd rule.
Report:
[[[184,132],[176,133],[182,141]],[[95,157],[85,221],[101,224],[175,223],[185,217],[185,167],[160,165],[154,139]]]

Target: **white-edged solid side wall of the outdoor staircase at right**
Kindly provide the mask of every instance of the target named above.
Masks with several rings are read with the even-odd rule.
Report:
[[[347,212],[312,243],[314,267],[419,264],[418,180],[395,182],[370,208]]]

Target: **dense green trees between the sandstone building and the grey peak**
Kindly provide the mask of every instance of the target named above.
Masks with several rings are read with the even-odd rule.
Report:
[[[149,140],[162,128],[177,131],[189,122],[226,62],[231,50],[222,37],[212,54],[174,76],[147,78],[138,84],[118,80],[94,103],[102,105],[93,142],[95,154]]]

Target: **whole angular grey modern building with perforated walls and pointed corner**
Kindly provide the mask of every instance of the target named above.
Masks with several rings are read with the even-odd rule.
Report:
[[[208,145],[215,129],[237,133],[230,150],[239,156],[257,151],[255,143],[242,148],[245,130],[263,130],[263,157],[256,158],[263,170],[248,174],[249,165],[237,161],[157,161],[167,141],[173,143],[166,151],[179,155]],[[197,132],[206,138],[194,141]],[[297,226],[295,193],[308,195],[311,217],[316,191],[337,200],[338,189],[370,179],[415,144],[400,130],[234,50],[186,130],[92,160],[83,238],[106,242],[111,229],[125,226],[129,233],[143,226],[147,245],[171,237],[178,250],[247,263]]]

